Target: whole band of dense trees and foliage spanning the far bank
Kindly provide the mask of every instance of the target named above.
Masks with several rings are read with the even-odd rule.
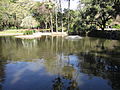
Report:
[[[120,14],[119,0],[80,0],[77,10],[62,8],[62,0],[1,0],[0,30],[41,28],[53,31],[105,30]],[[113,26],[119,29],[119,25]],[[84,33],[83,32],[83,33]]]

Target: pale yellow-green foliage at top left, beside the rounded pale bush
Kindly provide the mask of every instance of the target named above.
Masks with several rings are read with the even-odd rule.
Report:
[[[31,15],[30,10],[33,6],[32,0],[1,0],[0,29],[20,28],[22,20]]]

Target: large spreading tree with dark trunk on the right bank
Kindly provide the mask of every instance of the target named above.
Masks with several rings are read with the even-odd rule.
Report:
[[[116,0],[81,0],[81,2],[86,7],[83,14],[88,23],[96,23],[101,30],[104,30],[106,24],[116,15],[114,9]]]

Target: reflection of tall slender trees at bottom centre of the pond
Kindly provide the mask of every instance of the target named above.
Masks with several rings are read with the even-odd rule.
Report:
[[[74,73],[75,67],[70,63],[68,55],[67,64],[63,66],[62,72],[58,74],[58,77],[53,80],[53,90],[79,90]]]

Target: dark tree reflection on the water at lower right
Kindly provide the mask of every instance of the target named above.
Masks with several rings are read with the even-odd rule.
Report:
[[[113,89],[120,88],[120,63],[118,60],[96,56],[90,52],[80,53],[79,57],[83,58],[80,64],[81,72],[108,79],[108,84]]]

